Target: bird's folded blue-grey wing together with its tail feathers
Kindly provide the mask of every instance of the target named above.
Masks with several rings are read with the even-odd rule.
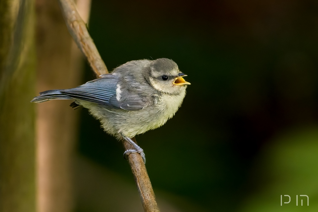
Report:
[[[101,77],[76,88],[44,91],[31,102],[79,99],[123,110],[140,110],[153,104],[152,92],[147,86],[132,83],[133,79],[121,78],[120,81],[120,76],[115,74],[103,74]],[[119,96],[116,93],[118,86],[121,88]]]

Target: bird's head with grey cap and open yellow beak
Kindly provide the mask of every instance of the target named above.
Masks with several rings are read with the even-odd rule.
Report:
[[[187,75],[180,72],[178,65],[166,58],[153,60],[150,65],[150,84],[165,93],[177,94],[186,85],[190,85],[190,82],[183,79],[184,76]]]

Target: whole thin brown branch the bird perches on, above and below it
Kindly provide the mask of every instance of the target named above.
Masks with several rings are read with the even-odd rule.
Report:
[[[73,39],[75,40],[77,46],[86,56],[94,73],[97,76],[101,74],[107,74],[107,67],[104,61],[101,59],[100,54],[98,53],[98,50],[93,42],[93,39],[90,37],[87,31],[84,21],[79,16],[73,0],[59,0],[59,3],[67,28]],[[133,139],[135,140],[135,138]],[[125,150],[133,149],[133,146],[131,146],[127,141],[123,141],[123,145]],[[142,157],[140,156],[140,154],[129,154],[128,162],[135,178],[135,183],[140,194],[144,211],[160,211]]]

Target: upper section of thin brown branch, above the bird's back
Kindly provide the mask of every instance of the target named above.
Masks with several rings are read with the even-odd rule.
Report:
[[[79,49],[86,56],[87,61],[92,67],[96,76],[98,77],[101,74],[107,74],[107,67],[104,61],[101,59],[93,39],[88,33],[86,24],[79,16],[74,1],[59,0],[59,3],[68,31],[72,35]]]

